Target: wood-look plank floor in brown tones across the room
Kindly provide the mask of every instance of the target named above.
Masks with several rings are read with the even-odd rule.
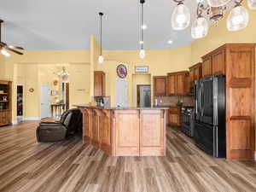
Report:
[[[256,163],[214,159],[167,130],[166,157],[109,157],[80,138],[37,143],[38,122],[0,127],[0,191],[256,191]]]

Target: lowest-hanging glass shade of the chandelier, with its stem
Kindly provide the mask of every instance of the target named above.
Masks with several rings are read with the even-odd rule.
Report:
[[[204,38],[208,33],[208,22],[207,19],[202,15],[201,3],[198,3],[197,6],[197,18],[192,24],[191,27],[191,36],[192,38]]]

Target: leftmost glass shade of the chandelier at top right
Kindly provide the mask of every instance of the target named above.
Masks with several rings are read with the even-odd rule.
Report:
[[[190,12],[189,8],[184,5],[184,0],[173,0],[177,7],[172,12],[172,28],[174,30],[183,30],[189,26]]]

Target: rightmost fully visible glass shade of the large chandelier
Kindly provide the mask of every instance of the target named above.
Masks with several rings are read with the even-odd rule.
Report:
[[[236,3],[235,8],[230,11],[228,16],[227,28],[230,32],[239,31],[248,25],[249,14],[247,9],[241,6],[241,2]]]

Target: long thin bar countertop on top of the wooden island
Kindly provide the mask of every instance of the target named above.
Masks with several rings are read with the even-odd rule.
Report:
[[[169,109],[167,107],[150,107],[150,108],[137,108],[137,107],[127,107],[127,108],[118,108],[118,107],[94,107],[94,106],[89,106],[85,104],[79,104],[79,105],[74,105],[74,107],[77,108],[97,108],[97,109],[107,109],[107,110],[161,110],[161,109]]]

